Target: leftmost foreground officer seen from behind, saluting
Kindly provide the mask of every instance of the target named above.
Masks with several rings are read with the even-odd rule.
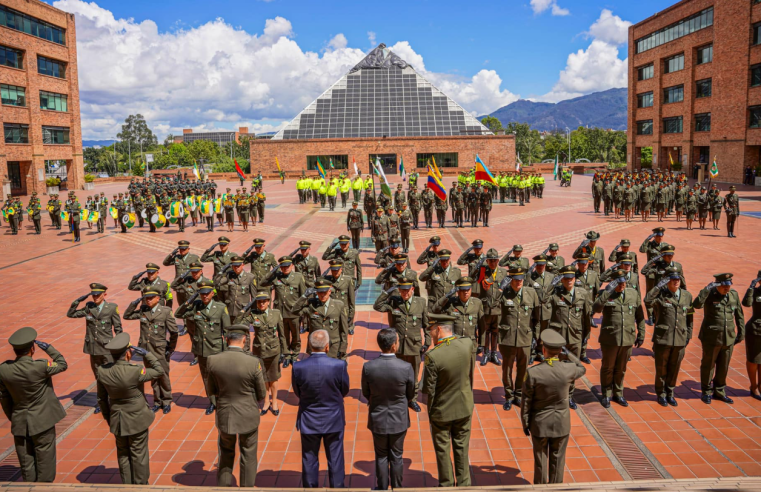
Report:
[[[16,358],[0,364],[0,403],[11,422],[21,477],[24,482],[52,482],[56,473],[55,425],[66,416],[52,377],[68,366],[52,345],[37,340],[34,328],[16,330],[8,343]],[[52,360],[33,359],[35,345]]]

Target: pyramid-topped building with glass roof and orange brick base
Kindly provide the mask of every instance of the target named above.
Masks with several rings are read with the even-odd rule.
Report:
[[[387,174],[470,168],[476,154],[492,170],[515,169],[515,138],[494,135],[384,44],[370,53],[269,140],[251,140],[251,171],[363,173],[380,159]]]

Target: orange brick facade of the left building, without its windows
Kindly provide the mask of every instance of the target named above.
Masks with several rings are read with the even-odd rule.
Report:
[[[0,83],[24,87],[26,106],[2,105],[0,123],[29,125],[28,144],[6,144],[0,139],[0,199],[10,190],[13,195],[44,193],[45,161],[65,160],[68,188],[82,189],[82,127],[79,116],[79,82],[77,70],[77,38],[74,15],[38,0],[3,0],[3,5],[66,30],[66,45],[60,45],[31,34],[0,26],[0,44],[24,52],[23,69],[0,66]],[[37,72],[37,55],[66,64],[65,78]],[[65,94],[67,112],[40,109],[40,90]],[[42,127],[69,128],[68,145],[43,144]],[[9,163],[18,169],[21,186],[11,187]],[[40,177],[42,179],[40,179]]]

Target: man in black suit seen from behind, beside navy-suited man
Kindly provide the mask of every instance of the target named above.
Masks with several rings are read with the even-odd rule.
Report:
[[[412,366],[396,357],[399,338],[396,330],[384,328],[378,333],[381,356],[362,367],[362,394],[370,411],[367,428],[373,433],[375,446],[375,490],[402,486],[404,438],[410,426],[409,402],[415,398],[415,374]]]

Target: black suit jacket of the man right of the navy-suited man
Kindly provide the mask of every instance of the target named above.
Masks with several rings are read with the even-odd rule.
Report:
[[[367,428],[376,434],[399,434],[410,426],[409,402],[415,398],[412,366],[382,355],[362,366],[362,395],[367,398]]]

